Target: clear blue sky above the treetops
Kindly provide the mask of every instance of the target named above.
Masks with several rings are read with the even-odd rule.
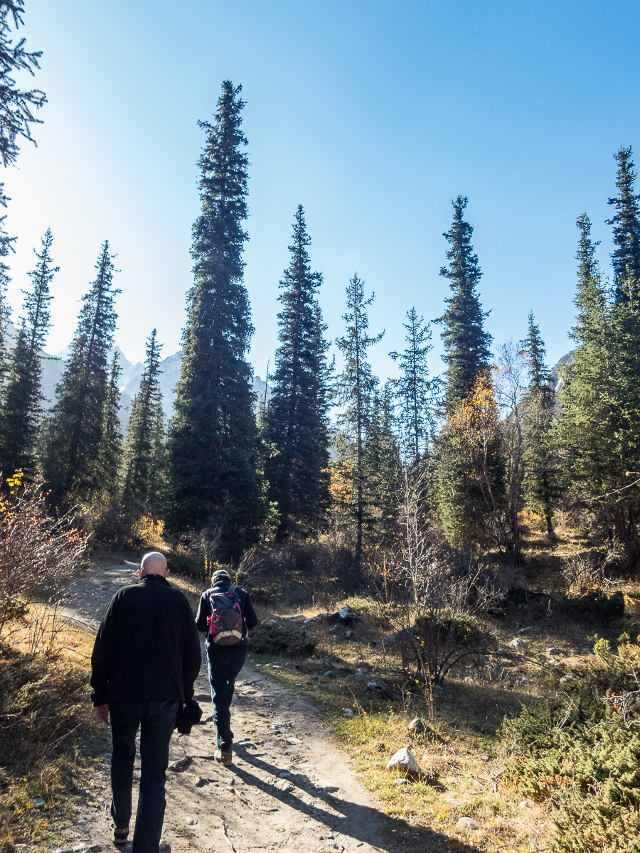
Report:
[[[273,364],[299,203],[328,334],[342,333],[357,271],[376,294],[370,330],[386,330],[371,351],[385,377],[406,310],[442,313],[442,233],[457,194],[468,196],[487,329],[520,339],[533,310],[554,363],[571,346],[575,220],[590,216],[608,268],[613,155],[632,145],[640,163],[639,13],[627,0],[26,0],[21,34],[43,50],[33,84],[49,102],[38,148],[24,143],[3,175],[15,316],[50,227],[61,270],[48,349],[67,345],[108,239],[117,343],[143,358],[155,326],[164,355],[177,350],[199,211],[196,123],[230,78],[247,102],[256,373]],[[439,372],[437,327],[433,338]]]

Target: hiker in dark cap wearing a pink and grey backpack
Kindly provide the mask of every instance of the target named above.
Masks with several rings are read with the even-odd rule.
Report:
[[[213,572],[212,587],[202,593],[198,605],[195,627],[207,636],[207,670],[218,744],[213,757],[224,767],[233,761],[231,699],[247,657],[247,630],[257,624],[247,590],[232,585],[224,569]]]

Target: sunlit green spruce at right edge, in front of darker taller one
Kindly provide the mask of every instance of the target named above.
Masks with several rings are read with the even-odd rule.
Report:
[[[564,416],[556,424],[567,477],[607,537],[637,541],[640,500],[627,490],[640,434],[640,305],[633,278],[608,293],[593,261],[590,223],[579,218],[573,360],[561,369]]]

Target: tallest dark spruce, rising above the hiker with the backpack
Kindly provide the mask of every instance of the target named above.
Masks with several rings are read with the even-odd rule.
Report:
[[[253,326],[242,282],[247,233],[247,140],[241,86],[222,84],[215,122],[200,122],[201,215],[193,227],[195,283],[188,294],[183,363],[168,441],[169,531],[211,526],[236,559],[265,518],[258,433],[246,353]]]

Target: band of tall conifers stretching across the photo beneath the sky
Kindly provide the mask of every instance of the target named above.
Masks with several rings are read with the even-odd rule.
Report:
[[[24,135],[29,104],[23,95]],[[451,296],[433,321],[420,305],[407,306],[406,347],[389,354],[399,379],[377,377],[369,365],[369,349],[384,346],[384,337],[369,330],[375,296],[359,272],[345,285],[340,361],[329,363],[317,299],[323,276],[313,269],[299,205],[280,281],[271,395],[258,400],[242,281],[244,107],[241,86],[224,81],[212,121],[200,123],[201,215],[193,225],[194,283],[172,417],[166,421],[162,411],[161,343],[151,330],[121,430],[118,357],[109,360],[119,291],[106,240],[55,400],[44,399],[49,284],[58,272],[48,230],[34,250],[15,338],[7,333],[9,305],[2,307],[3,476],[44,478],[54,514],[81,508],[96,537],[115,547],[131,542],[141,519],[160,525],[176,545],[207,541],[207,561],[225,564],[259,544],[311,543],[330,533],[344,548],[345,583],[364,583],[372,554],[396,548],[408,520],[407,490],[423,534],[460,559],[491,551],[517,566],[527,524],[541,525],[553,542],[561,510],[590,525],[597,543],[615,543],[620,566],[633,569],[640,555],[640,195],[631,148],[615,154],[608,200],[612,280],[594,260],[588,214],[577,219],[574,349],[556,368],[546,362],[533,313],[525,339],[501,344],[486,332],[463,196],[452,202],[439,270]],[[15,142],[5,150],[8,162],[17,156]],[[11,238],[5,233],[3,241],[9,276]],[[429,375],[426,358],[434,332],[445,347],[440,375]]]

